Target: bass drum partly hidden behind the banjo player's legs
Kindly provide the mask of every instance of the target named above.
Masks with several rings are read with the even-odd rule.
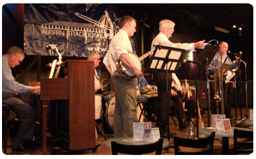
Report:
[[[136,104],[137,105],[137,104]],[[114,131],[114,112],[116,106],[116,97],[113,96],[108,101],[106,105],[106,124],[107,126]],[[142,105],[141,105],[142,108]],[[137,106],[137,119],[139,120],[139,115],[141,114],[141,109]],[[144,118],[141,115],[141,119],[139,122],[143,122]]]

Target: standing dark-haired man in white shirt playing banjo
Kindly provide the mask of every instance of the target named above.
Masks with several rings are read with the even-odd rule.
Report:
[[[126,15],[121,18],[119,32],[114,36],[109,45],[109,50],[104,57],[104,64],[112,74],[111,83],[116,95],[114,113],[114,136],[125,138],[133,136],[133,122],[137,122],[137,95],[135,79],[127,80],[118,72],[115,62],[120,58],[121,62],[133,70],[137,78],[143,74],[131,61],[129,53],[132,53],[129,37],[136,32],[136,21],[133,17]]]

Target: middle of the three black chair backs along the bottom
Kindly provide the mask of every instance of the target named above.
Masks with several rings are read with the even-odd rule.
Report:
[[[215,132],[212,132],[210,136],[207,138],[199,138],[197,140],[194,139],[185,139],[178,138],[174,136],[174,154],[185,154],[185,155],[199,155],[199,154],[209,154],[212,155],[214,148],[214,137]],[[203,150],[193,151],[193,152],[183,152],[179,149],[179,146],[187,147],[187,148],[203,148]]]

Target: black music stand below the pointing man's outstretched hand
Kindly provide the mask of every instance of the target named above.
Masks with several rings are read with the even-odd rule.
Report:
[[[210,127],[210,105],[211,105],[211,99],[210,99],[210,83],[209,83],[209,70],[208,65],[209,61],[212,62],[212,59],[216,55],[216,52],[219,50],[219,46],[213,46],[213,45],[205,45],[203,50],[201,50],[201,53],[199,54],[197,61],[199,61],[202,65],[205,64],[205,70],[206,70],[206,82],[207,82],[207,123],[208,127]]]

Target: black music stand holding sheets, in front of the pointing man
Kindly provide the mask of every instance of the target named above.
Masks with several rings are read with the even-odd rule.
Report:
[[[166,103],[168,107],[168,141],[170,144],[169,105],[168,105],[168,72],[175,73],[179,62],[183,60],[185,50],[168,46],[155,46],[156,49],[151,57],[150,70],[152,72],[166,72]],[[170,148],[170,147],[169,147]]]

